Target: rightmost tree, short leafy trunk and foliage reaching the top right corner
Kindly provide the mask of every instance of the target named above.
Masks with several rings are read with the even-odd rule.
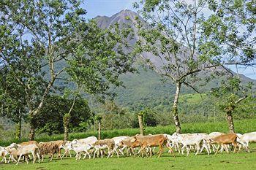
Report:
[[[226,112],[230,132],[234,132],[233,112],[244,101],[248,87],[241,83],[238,66],[256,66],[256,6],[253,0],[208,1],[211,14],[202,24],[203,41],[219,47],[219,61],[236,68],[237,76],[222,83],[217,96],[225,101],[219,107]]]

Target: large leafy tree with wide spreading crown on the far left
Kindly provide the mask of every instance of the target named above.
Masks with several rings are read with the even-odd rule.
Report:
[[[58,90],[56,80],[61,79],[67,69],[67,64],[58,65],[59,62],[66,61],[70,68],[77,66],[72,72],[78,73],[74,78],[85,84],[86,93],[101,93],[110,84],[121,85],[118,74],[128,72],[131,66],[128,55],[117,45],[120,35],[102,31],[95,23],[87,22],[86,11],[80,8],[80,3],[68,0],[0,2],[0,23],[5,29],[1,31],[4,39],[0,42],[0,62],[8,71],[13,69],[13,79],[25,90],[31,140],[36,117],[47,96]]]

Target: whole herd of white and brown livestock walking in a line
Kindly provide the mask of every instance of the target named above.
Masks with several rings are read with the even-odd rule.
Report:
[[[173,150],[184,155],[185,150],[189,155],[190,150],[195,150],[195,155],[199,152],[206,150],[208,155],[213,150],[215,154],[225,150],[229,152],[231,147],[233,151],[237,152],[244,147],[246,152],[249,152],[249,142],[256,142],[256,132],[246,134],[222,134],[221,132],[212,132],[211,134],[197,133],[197,134],[156,134],[147,136],[118,136],[112,139],[97,140],[95,136],[88,137],[86,139],[74,139],[72,142],[51,141],[51,142],[39,142],[29,141],[20,144],[12,143],[7,147],[0,147],[0,157],[2,162],[10,163],[15,162],[18,164],[20,158],[25,159],[28,163],[29,155],[32,155],[33,163],[38,159],[38,162],[44,160],[45,155],[49,155],[50,161],[53,156],[57,154],[57,158],[62,159],[64,156],[72,157],[70,151],[75,151],[76,160],[83,159],[88,156],[93,158],[99,153],[101,158],[107,154],[108,158],[114,154],[124,155],[124,150],[127,150],[127,156],[129,155],[141,155],[144,154],[148,157],[153,155],[155,147],[159,147],[158,157],[162,155],[163,147],[167,147],[168,152],[173,153]],[[138,149],[137,149],[138,148]],[[64,154],[61,155],[61,150],[64,150]],[[7,161],[7,158],[9,159]]]

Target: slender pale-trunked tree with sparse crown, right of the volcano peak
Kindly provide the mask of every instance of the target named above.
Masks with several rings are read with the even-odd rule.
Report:
[[[173,100],[173,120],[176,131],[181,132],[178,119],[178,98],[181,85],[197,90],[194,84],[199,81],[197,74],[212,71],[219,66],[214,56],[219,54],[217,46],[204,44],[200,25],[205,20],[202,11],[206,1],[151,1],[143,0],[140,14],[149,25],[138,20],[136,50],[141,55],[152,53],[148,64],[159,74],[172,80],[176,85]],[[135,4],[135,7],[140,7]],[[145,26],[146,25],[146,26]]]

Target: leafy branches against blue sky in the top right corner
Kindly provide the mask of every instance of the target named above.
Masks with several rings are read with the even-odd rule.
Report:
[[[208,1],[213,14],[204,21],[203,44],[217,47],[219,61],[250,65],[255,61],[256,13],[253,0]]]

